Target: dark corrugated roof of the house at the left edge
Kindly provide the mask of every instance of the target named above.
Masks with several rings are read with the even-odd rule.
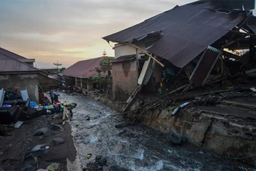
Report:
[[[14,55],[13,55],[14,54]],[[11,56],[9,56],[11,55]],[[0,50],[0,72],[35,72],[40,71],[34,66],[25,64],[17,59],[18,55],[1,48]],[[22,56],[20,56],[22,57]],[[18,57],[18,58],[20,58]],[[22,57],[24,58],[24,57]]]

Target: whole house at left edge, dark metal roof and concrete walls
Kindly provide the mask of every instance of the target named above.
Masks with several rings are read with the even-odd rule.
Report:
[[[34,59],[0,48],[0,88],[4,88],[7,94],[17,96],[21,96],[20,91],[26,90],[29,98],[39,103],[39,91],[55,86],[57,80],[51,79],[33,64]]]

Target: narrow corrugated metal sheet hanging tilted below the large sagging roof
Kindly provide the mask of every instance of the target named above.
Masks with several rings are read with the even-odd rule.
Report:
[[[196,86],[203,85],[213,69],[219,54],[220,50],[214,47],[208,47],[198,61],[197,66],[195,67],[189,80],[192,83],[195,83]]]

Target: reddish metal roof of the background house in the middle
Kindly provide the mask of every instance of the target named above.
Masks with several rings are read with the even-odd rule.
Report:
[[[71,77],[90,77],[96,76],[98,72],[95,72],[94,69],[99,67],[99,62],[104,57],[91,58],[84,61],[78,61],[77,63],[69,66],[64,70],[64,75]],[[102,73],[102,75],[108,75],[108,73]]]

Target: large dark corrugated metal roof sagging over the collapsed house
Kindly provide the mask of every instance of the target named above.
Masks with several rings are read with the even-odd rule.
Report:
[[[132,42],[154,31],[162,31],[162,37],[148,51],[183,67],[246,18],[245,13],[217,12],[220,8],[213,2],[176,6],[103,39]]]

